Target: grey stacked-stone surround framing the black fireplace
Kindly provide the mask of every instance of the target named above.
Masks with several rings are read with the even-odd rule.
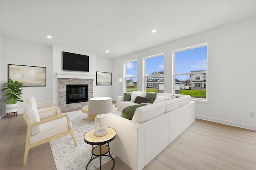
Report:
[[[93,97],[93,79],[71,79],[71,78],[59,78],[59,107],[61,110],[82,108],[89,104],[87,102],[80,103],[70,103],[67,104],[66,96],[66,85],[78,85],[87,84],[88,85],[88,99]]]

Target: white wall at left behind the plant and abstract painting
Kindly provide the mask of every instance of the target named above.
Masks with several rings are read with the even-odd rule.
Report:
[[[35,43],[2,39],[2,77],[1,83],[7,83],[8,64],[46,67],[46,87],[23,87],[22,99],[18,102],[18,113],[23,113],[28,97],[34,96],[37,102],[51,100],[52,94],[52,47]],[[5,98],[4,98],[5,99]],[[5,105],[1,100],[2,106]],[[2,107],[2,115],[5,115]]]

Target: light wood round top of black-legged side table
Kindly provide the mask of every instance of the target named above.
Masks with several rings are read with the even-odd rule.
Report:
[[[108,142],[111,142],[116,138],[116,130],[113,128],[106,128],[107,134],[105,136],[94,136],[95,129],[89,130],[84,134],[84,142],[92,145],[100,145],[100,144],[106,144]]]

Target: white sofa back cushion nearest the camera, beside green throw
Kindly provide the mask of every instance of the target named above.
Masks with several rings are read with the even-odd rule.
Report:
[[[153,119],[154,117],[164,114],[165,110],[166,103],[164,102],[139,107],[136,109],[132,117],[132,121],[137,123],[143,123],[145,121]]]

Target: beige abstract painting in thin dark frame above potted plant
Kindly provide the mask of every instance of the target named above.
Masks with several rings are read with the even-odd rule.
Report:
[[[46,67],[9,64],[8,76],[22,86],[46,86]]]

